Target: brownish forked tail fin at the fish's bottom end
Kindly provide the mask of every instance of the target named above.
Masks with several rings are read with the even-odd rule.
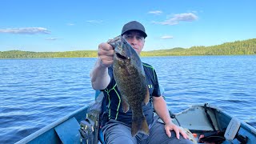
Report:
[[[138,134],[138,132],[146,135],[150,134],[149,126],[147,125],[144,115],[141,123],[133,121],[131,124],[131,135],[134,137],[136,134]]]

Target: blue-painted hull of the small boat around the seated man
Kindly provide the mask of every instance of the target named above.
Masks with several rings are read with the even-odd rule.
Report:
[[[93,104],[84,106],[57,122],[38,130],[34,134],[30,134],[17,143],[80,143],[80,134],[78,132],[80,129],[79,122],[86,119],[86,114],[91,110],[92,106]],[[216,106],[207,105],[207,113],[210,115],[213,125],[211,125],[209,118],[206,116],[205,105],[194,105],[175,114],[173,122],[197,134],[199,137],[200,134],[214,131],[214,129],[225,130],[231,118],[233,118],[230,114],[227,114]],[[238,134],[247,138],[247,143],[249,144],[256,142],[255,128],[245,122],[241,122]],[[232,142],[240,143],[238,139],[234,139]],[[230,142],[225,141],[224,143]]]

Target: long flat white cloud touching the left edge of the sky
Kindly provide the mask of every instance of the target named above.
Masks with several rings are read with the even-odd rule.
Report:
[[[43,27],[25,27],[0,29],[0,33],[9,34],[50,34],[50,31]]]

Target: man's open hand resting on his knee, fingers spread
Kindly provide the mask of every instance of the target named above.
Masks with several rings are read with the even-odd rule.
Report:
[[[171,133],[170,133],[171,130],[174,130],[174,132],[176,133],[176,138],[178,139],[179,139],[179,134],[182,134],[183,138],[185,139],[189,138],[187,134],[181,128],[176,126],[173,122],[166,123],[165,130],[169,138],[171,137]]]

